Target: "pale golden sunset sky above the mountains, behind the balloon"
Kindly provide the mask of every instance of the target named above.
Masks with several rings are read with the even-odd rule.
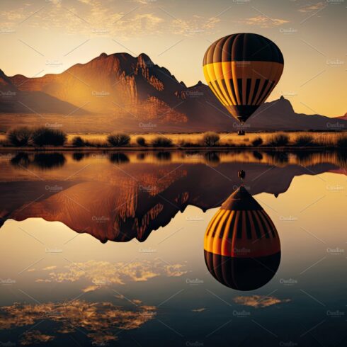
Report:
[[[268,101],[285,96],[298,113],[347,112],[344,0],[0,1],[0,69],[43,76],[102,52],[146,53],[187,86],[204,81],[207,47],[224,35],[258,33],[283,52]]]

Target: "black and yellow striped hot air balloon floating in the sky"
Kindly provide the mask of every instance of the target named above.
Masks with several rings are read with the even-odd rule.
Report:
[[[215,96],[243,124],[273,91],[283,64],[274,42],[258,34],[238,33],[207,48],[203,72]]]

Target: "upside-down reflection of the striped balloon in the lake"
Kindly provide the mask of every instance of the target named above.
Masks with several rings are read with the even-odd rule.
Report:
[[[261,288],[278,270],[278,232],[244,186],[227,198],[210,221],[204,254],[212,276],[236,290]]]

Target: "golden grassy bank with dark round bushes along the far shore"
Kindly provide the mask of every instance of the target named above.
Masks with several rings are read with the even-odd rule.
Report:
[[[193,133],[193,134],[59,134],[61,142],[57,142],[57,133],[52,130],[25,128],[9,130],[0,135],[3,148],[40,149],[209,149],[209,148],[334,148],[347,147],[347,132],[254,132],[239,136],[237,133]],[[14,134],[13,134],[14,132]],[[40,134],[38,141],[35,136]],[[43,135],[42,135],[43,134]],[[45,141],[42,143],[42,137]],[[52,143],[50,139],[52,137]]]

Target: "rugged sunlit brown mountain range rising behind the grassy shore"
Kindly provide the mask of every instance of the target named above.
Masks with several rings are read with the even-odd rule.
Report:
[[[102,53],[61,74],[6,76],[0,70],[0,114],[49,114],[112,120],[132,132],[235,131],[239,124],[201,81],[187,87],[147,55]],[[103,115],[103,117],[101,117]],[[102,120],[101,120],[102,119]],[[139,124],[144,126],[139,130]],[[151,126],[152,125],[152,126]],[[343,130],[345,117],[295,113],[290,101],[264,103],[244,125],[257,130]]]

